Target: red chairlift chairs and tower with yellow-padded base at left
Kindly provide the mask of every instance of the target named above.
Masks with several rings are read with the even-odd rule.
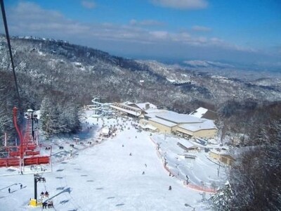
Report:
[[[20,144],[15,143],[13,146],[8,146],[5,140],[4,147],[0,148],[0,176],[34,174],[34,199],[30,200],[30,205],[36,207],[41,205],[37,200],[37,182],[44,177],[41,177],[40,174],[52,171],[51,146],[39,143],[38,133],[34,132],[34,120],[37,121],[37,116],[31,109],[27,110],[25,114],[25,134],[22,135],[18,126],[17,111],[18,108],[14,107],[13,124],[18,133]],[[43,151],[41,148],[49,148],[50,150]],[[13,173],[5,173],[5,170],[13,170]]]

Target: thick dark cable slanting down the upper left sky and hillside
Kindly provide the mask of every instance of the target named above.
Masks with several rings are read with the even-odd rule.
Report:
[[[17,95],[18,95],[18,107],[21,108],[20,93],[18,91],[18,82],[17,82],[17,77],[15,75],[15,65],[13,63],[13,53],[12,53],[12,48],[11,48],[10,36],[8,34],[8,24],[7,24],[6,13],[5,13],[5,8],[4,8],[4,0],[0,0],[0,4],[1,4],[3,23],[4,23],[4,27],[5,27],[6,39],[7,39],[7,44],[8,44],[8,50],[9,50],[10,58],[11,58],[13,77],[15,80],[15,89],[16,89]]]

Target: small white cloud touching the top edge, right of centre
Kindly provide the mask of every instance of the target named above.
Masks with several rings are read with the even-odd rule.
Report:
[[[202,9],[207,8],[206,0],[151,0],[157,6],[177,9]]]

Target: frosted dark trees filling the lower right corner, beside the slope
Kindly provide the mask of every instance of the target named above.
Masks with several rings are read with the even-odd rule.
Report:
[[[281,119],[251,124],[251,146],[241,148],[229,183],[211,197],[214,210],[280,210]]]

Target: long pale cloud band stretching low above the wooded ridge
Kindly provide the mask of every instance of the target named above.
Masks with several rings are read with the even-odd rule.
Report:
[[[122,48],[125,49],[150,44],[154,48],[157,46],[159,48],[169,46],[175,51],[183,51],[183,49],[192,47],[193,49],[218,48],[252,52],[252,49],[229,44],[217,37],[198,37],[188,32],[169,32],[164,29],[152,30],[143,27],[145,25],[157,25],[158,22],[155,20],[131,20],[127,25],[80,23],[76,20],[65,18],[58,11],[45,10],[37,4],[24,1],[20,1],[7,14],[10,34],[12,35],[66,39],[76,44],[87,44],[89,46],[95,46],[96,44],[101,46],[101,43],[103,43],[108,46],[107,49],[110,49],[110,44],[112,43],[116,45],[122,43]],[[162,51],[169,52],[169,48],[162,49]]]

